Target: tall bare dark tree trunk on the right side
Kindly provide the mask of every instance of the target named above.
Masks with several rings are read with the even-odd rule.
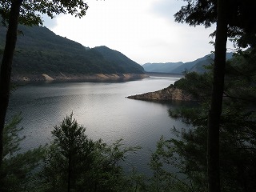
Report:
[[[220,192],[219,130],[226,65],[226,0],[218,0],[218,20],[215,39],[214,83],[208,116],[208,190]]]

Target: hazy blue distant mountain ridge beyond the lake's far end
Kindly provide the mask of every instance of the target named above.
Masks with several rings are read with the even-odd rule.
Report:
[[[226,59],[232,58],[233,53],[227,53]],[[143,66],[146,72],[182,74],[184,71],[196,71],[202,73],[205,71],[203,66],[214,62],[214,54],[207,54],[193,62],[166,62],[166,63],[146,63]]]

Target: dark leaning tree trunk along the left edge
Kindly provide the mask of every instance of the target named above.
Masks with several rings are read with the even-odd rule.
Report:
[[[6,46],[3,52],[0,73],[0,166],[3,154],[3,129],[6,121],[6,111],[10,98],[10,74],[17,40],[18,16],[22,0],[12,1],[10,7],[9,26],[6,34]]]

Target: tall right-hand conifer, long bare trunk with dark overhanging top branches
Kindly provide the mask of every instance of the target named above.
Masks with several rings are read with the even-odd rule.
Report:
[[[208,115],[208,182],[209,191],[220,191],[219,129],[226,66],[226,41],[233,38],[237,46],[254,46],[256,34],[254,0],[185,0],[186,6],[174,15],[177,22],[192,26],[211,26],[217,22],[215,39],[214,81]],[[246,37],[246,38],[245,38]],[[250,41],[245,41],[250,37]],[[253,38],[252,38],[253,37]],[[244,42],[243,44],[241,42]]]

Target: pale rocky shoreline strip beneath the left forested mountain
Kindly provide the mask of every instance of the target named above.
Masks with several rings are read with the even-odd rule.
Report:
[[[107,82],[131,81],[149,77],[147,74],[27,74],[14,75],[12,82]]]

